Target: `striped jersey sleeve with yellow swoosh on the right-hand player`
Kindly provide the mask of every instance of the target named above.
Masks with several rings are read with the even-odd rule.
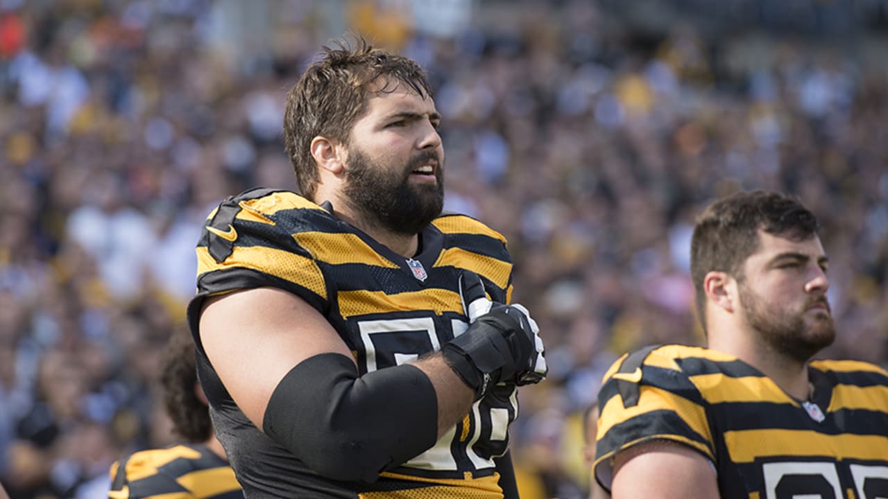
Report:
[[[623,355],[599,392],[599,432],[593,470],[608,489],[614,456],[654,440],[694,448],[710,461],[716,449],[697,386],[662,347]]]

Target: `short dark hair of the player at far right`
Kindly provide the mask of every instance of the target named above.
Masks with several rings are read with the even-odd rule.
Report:
[[[741,280],[743,262],[759,247],[759,230],[802,240],[816,234],[819,228],[814,214],[797,199],[762,190],[731,194],[703,210],[691,237],[691,278],[703,329],[703,279],[707,273],[725,272]]]

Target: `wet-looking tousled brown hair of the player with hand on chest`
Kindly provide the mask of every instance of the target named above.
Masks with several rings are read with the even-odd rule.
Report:
[[[311,153],[312,140],[322,136],[348,144],[354,122],[367,110],[370,91],[395,91],[407,84],[423,98],[432,87],[422,67],[413,59],[374,48],[356,37],[355,47],[335,42],[324,46],[287,93],[283,119],[284,146],[293,163],[299,191],[313,198],[318,170]],[[373,87],[380,82],[378,88]]]

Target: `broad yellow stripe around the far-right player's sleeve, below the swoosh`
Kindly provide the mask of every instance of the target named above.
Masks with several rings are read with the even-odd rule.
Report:
[[[611,397],[610,400],[607,400],[605,407],[601,409],[601,414],[614,414],[619,417],[599,419],[599,435],[606,434],[615,425],[629,421],[633,417],[642,416],[655,410],[668,410],[678,414],[702,438],[712,441],[710,424],[706,419],[706,411],[702,407],[668,390],[647,385],[642,385],[639,388],[638,404],[633,407],[623,408],[621,397]],[[694,442],[693,445],[695,448],[700,448],[710,458],[713,457],[709,448],[701,447],[699,442]]]

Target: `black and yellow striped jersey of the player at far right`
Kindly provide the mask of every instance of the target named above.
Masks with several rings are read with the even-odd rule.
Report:
[[[722,499],[888,497],[888,373],[866,362],[814,360],[799,401],[746,362],[663,345],[617,360],[599,392],[596,478],[614,455],[652,440],[710,460]]]

